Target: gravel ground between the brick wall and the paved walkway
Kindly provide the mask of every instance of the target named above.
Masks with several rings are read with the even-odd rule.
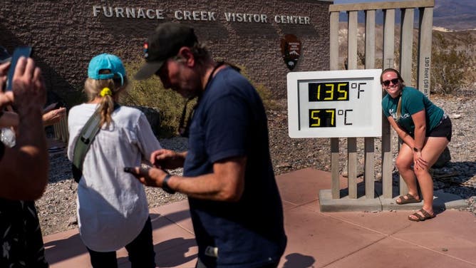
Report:
[[[467,200],[466,210],[476,212],[476,143],[475,126],[476,98],[474,91],[458,97],[431,96],[433,102],[442,107],[452,118],[452,141],[448,147],[452,160],[443,168],[434,170],[435,190],[443,190],[460,195]],[[269,142],[271,158],[276,175],[299,170],[316,168],[330,171],[330,141],[328,138],[291,139],[287,130],[286,100],[277,102],[278,108],[270,110]],[[393,155],[396,155],[397,137],[393,135]],[[160,140],[164,148],[185,150],[184,138]],[[358,153],[363,155],[363,138],[357,139]],[[341,171],[345,170],[346,139],[340,139]],[[380,155],[380,140],[376,142],[376,155]],[[360,157],[359,157],[360,159]],[[41,221],[43,235],[62,232],[77,228],[76,222],[76,182],[71,176],[71,163],[66,158],[66,152],[52,153],[50,158],[50,181],[43,197],[36,202]],[[380,160],[376,158],[376,179],[381,176],[378,172]],[[172,172],[180,174],[181,170]],[[395,181],[398,173],[394,172]],[[165,205],[170,202],[185,200],[184,195],[169,195],[161,189],[146,187],[150,207]]]

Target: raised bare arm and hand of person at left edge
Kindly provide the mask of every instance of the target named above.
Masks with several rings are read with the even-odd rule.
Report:
[[[13,62],[13,58],[12,58]],[[3,89],[6,70],[14,71],[11,81],[12,91],[0,93],[1,105],[5,98],[16,108],[19,125],[16,145],[7,148],[8,157],[0,162],[2,174],[10,174],[9,186],[1,191],[2,197],[13,200],[36,200],[41,197],[48,183],[48,150],[41,115],[46,102],[46,87],[40,68],[32,58],[21,56],[13,64],[0,64],[0,83]],[[11,98],[9,98],[11,97]],[[24,168],[24,167],[29,168]]]

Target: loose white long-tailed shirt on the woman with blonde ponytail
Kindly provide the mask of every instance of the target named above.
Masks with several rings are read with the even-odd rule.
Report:
[[[69,160],[83,125],[97,107],[84,103],[69,111]],[[140,110],[120,106],[112,118],[113,123],[107,129],[103,126],[86,154],[76,201],[81,239],[97,252],[118,250],[143,230],[149,216],[144,187],[123,169],[139,166],[161,148]]]

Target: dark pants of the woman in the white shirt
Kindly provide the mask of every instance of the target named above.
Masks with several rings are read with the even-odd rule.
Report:
[[[86,247],[87,248],[87,247]],[[133,242],[125,246],[129,253],[129,261],[132,268],[155,267],[154,244],[152,243],[152,223],[150,217],[145,222],[145,226]],[[93,267],[118,267],[118,260],[115,252],[95,252],[88,249],[91,264]]]

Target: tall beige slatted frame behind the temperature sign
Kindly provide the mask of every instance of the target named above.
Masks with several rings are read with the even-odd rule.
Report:
[[[414,85],[428,96],[430,92],[430,63],[431,63],[431,36],[433,28],[433,6],[434,0],[417,1],[388,1],[359,4],[333,4],[329,6],[330,12],[330,66],[331,71],[339,68],[338,55],[338,34],[339,34],[339,13],[346,12],[348,15],[348,55],[347,68],[356,69],[357,36],[358,36],[358,11],[365,12],[365,66],[364,68],[376,68],[376,11],[383,11],[383,54],[382,67],[397,68],[403,77],[403,80],[410,86],[412,81],[412,61],[413,61],[413,30],[415,9],[419,11],[418,24],[418,64],[416,73],[417,84]],[[395,53],[395,11],[401,11],[400,18],[400,48],[399,53]],[[398,56],[395,61],[395,55]],[[398,63],[398,66],[395,66]],[[383,116],[383,115],[382,115]],[[382,183],[383,198],[393,198],[392,192],[392,155],[391,155],[391,131],[390,124],[386,118],[382,118],[382,138],[381,138],[381,158],[382,158]],[[373,199],[375,197],[375,164],[374,164],[374,138],[364,138],[364,181],[365,197]],[[356,138],[347,138],[348,144],[348,198],[357,198],[357,143]],[[339,185],[339,140],[331,138],[331,172],[333,199],[342,198],[340,196]],[[407,192],[406,185],[400,178],[400,194]]]

